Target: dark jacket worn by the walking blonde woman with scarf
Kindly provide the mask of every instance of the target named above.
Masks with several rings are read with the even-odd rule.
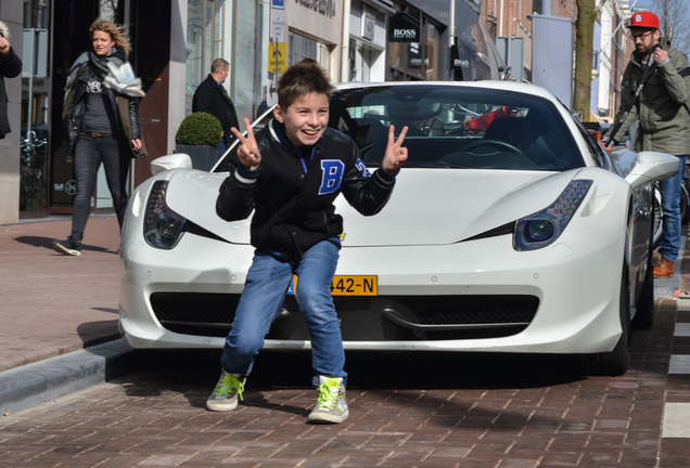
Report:
[[[125,62],[126,57],[122,51],[113,49],[114,58]],[[86,94],[87,83],[97,79],[99,69],[93,65],[93,53],[82,53],[72,65],[69,75],[67,76],[67,84],[65,87],[65,103],[63,106],[63,122],[67,128],[68,146],[67,160],[74,159],[74,152],[79,140],[79,133],[82,129],[84,114],[86,112]],[[120,136],[128,142],[131,140],[141,140],[141,125],[139,122],[139,98],[133,98],[117,93],[112,89],[106,92],[107,102],[110,104],[108,115],[114,126],[113,133],[122,132]],[[127,145],[131,148],[131,145]],[[133,153],[132,157],[141,157],[145,155],[145,151]]]

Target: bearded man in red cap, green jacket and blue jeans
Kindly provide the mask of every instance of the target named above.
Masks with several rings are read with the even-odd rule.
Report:
[[[632,14],[628,25],[635,51],[623,74],[622,108],[634,99],[643,76],[643,88],[625,121],[609,141],[621,141],[630,125],[639,119],[635,150],[655,151],[678,156],[680,171],[660,182],[662,194],[661,258],[654,265],[654,277],[668,277],[675,273],[674,262],[680,249],[680,191],[686,160],[690,153],[690,78],[681,75],[688,67],[688,57],[661,37],[659,17],[642,11]],[[652,67],[648,69],[649,67]],[[644,74],[644,72],[648,72]],[[616,121],[623,118],[618,110]]]

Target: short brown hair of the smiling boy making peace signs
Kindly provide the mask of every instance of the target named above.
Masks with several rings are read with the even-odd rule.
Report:
[[[278,80],[278,105],[286,109],[297,98],[317,93],[331,96],[333,87],[323,68],[311,60],[305,58],[292,65]]]

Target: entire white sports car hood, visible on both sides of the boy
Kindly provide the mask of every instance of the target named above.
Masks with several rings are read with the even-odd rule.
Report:
[[[438,245],[467,239],[548,207],[577,172],[403,169],[379,214],[363,217],[344,197],[336,199],[336,212],[345,224],[344,246]],[[248,244],[248,220],[226,222],[216,214],[225,177],[227,173],[176,171],[166,204],[228,242]]]

